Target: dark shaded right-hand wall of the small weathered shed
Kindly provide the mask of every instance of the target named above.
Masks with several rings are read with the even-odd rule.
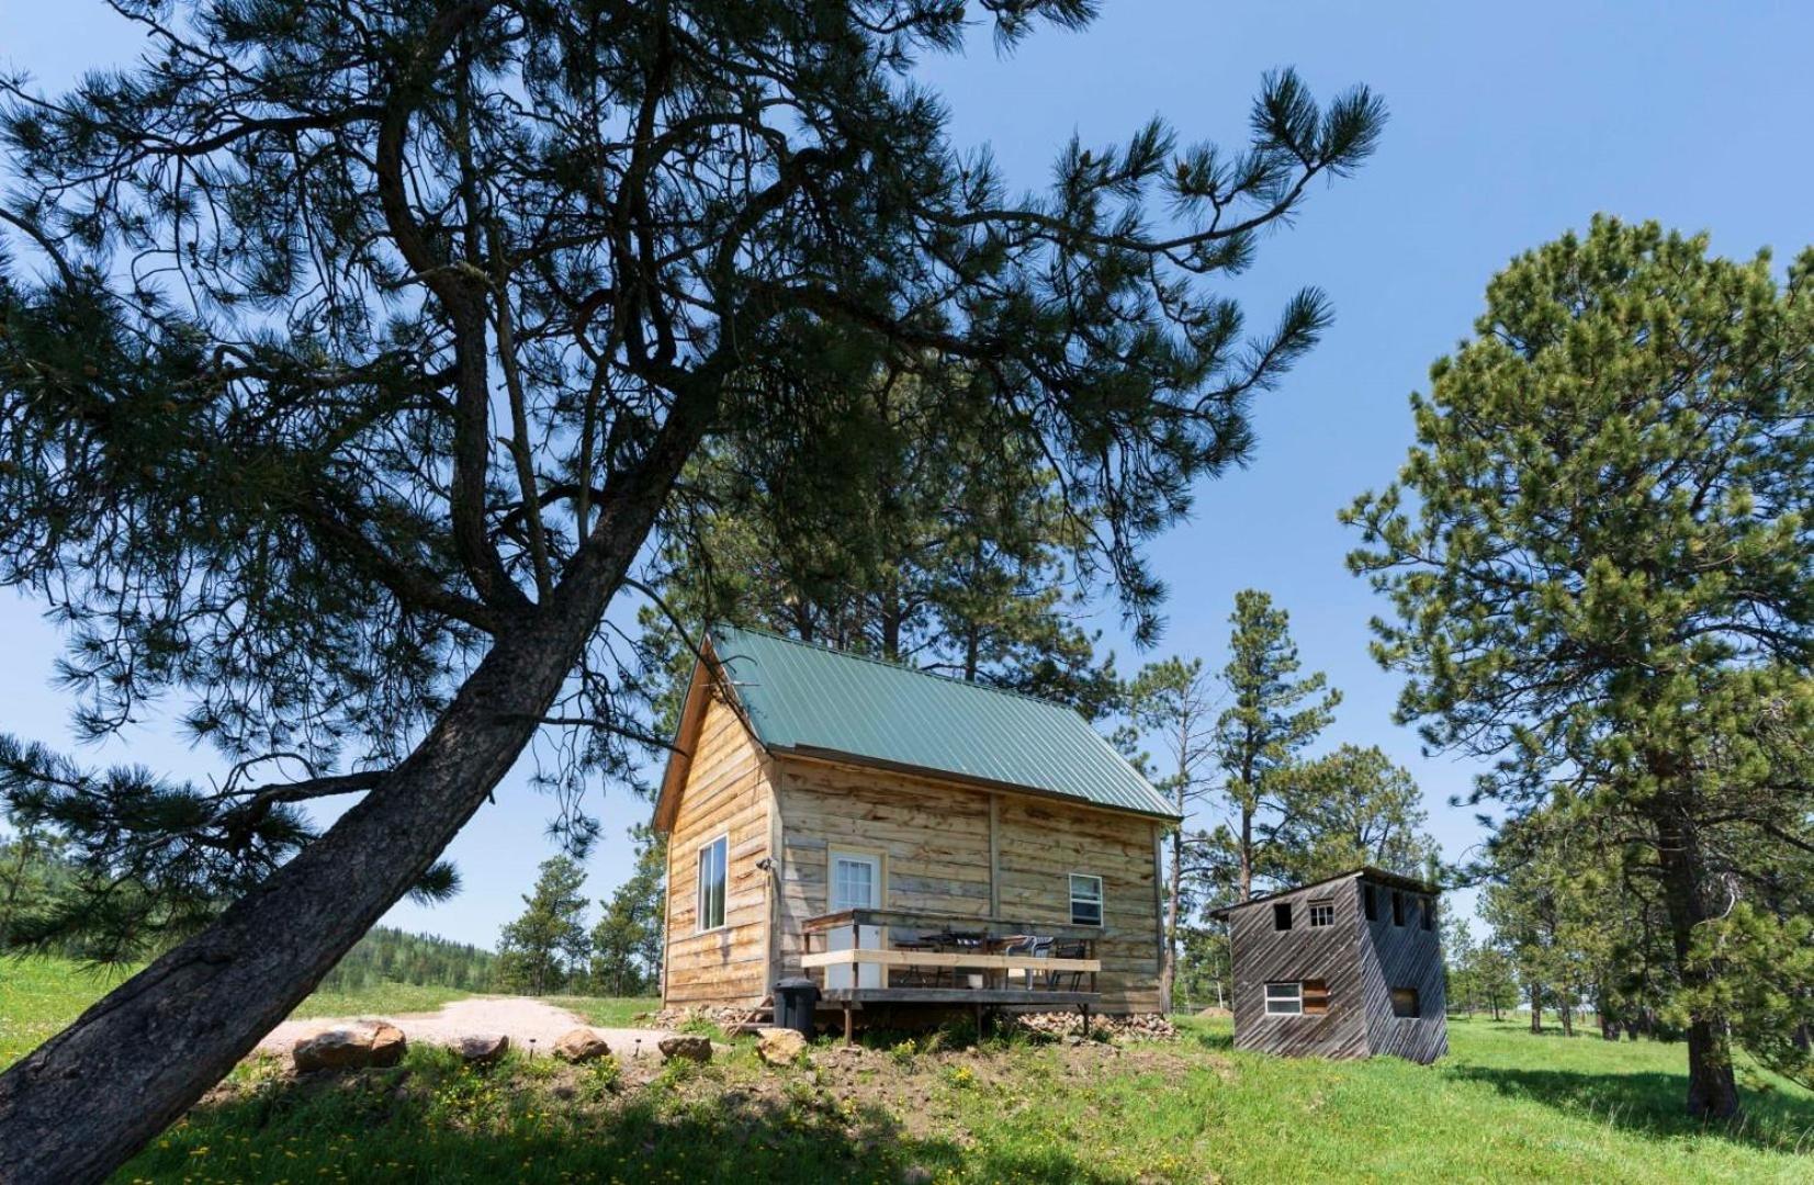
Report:
[[[1362,922],[1360,978],[1368,996],[1368,1045],[1429,1063],[1449,1051],[1448,993],[1435,925],[1422,927],[1422,898],[1406,893],[1404,925],[1391,924],[1393,889],[1377,887],[1379,918]],[[1419,1018],[1395,1016],[1391,989],[1415,987]]]

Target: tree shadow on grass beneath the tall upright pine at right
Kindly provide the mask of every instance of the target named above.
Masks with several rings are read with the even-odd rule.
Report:
[[[1449,1067],[1464,1082],[1484,1082],[1507,1098],[1531,1100],[1575,1118],[1662,1136],[1714,1136],[1749,1147],[1814,1149],[1814,1100],[1781,1091],[1745,1091],[1738,1120],[1703,1121],[1683,1112],[1687,1074],[1658,1071],[1598,1072],[1564,1069]]]

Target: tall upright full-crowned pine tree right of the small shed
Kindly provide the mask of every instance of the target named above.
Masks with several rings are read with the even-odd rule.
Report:
[[[1413,399],[1399,483],[1346,514],[1397,610],[1377,653],[1429,742],[1495,759],[1480,795],[1656,886],[1687,1107],[1729,1116],[1743,965],[1792,938],[1751,906],[1814,851],[1814,252],[1778,283],[1596,218],[1497,276],[1475,328]]]

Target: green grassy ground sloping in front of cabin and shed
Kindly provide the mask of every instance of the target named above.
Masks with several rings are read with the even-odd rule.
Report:
[[[22,967],[0,965],[0,1062],[98,991],[22,984]],[[591,1004],[600,1020],[648,1007]],[[1814,1098],[1754,1071],[1747,1120],[1703,1129],[1680,1116],[1678,1045],[1477,1020],[1451,1023],[1451,1047],[1433,1067],[1284,1062],[1234,1053],[1226,1022],[1188,1022],[1177,1042],[1130,1045],[822,1043],[787,1071],[747,1038],[706,1067],[475,1072],[412,1049],[394,1071],[294,1082],[263,1062],[120,1180],[1814,1180],[1799,1152]]]

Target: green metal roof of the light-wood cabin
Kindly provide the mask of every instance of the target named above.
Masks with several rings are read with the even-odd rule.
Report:
[[[720,626],[711,644],[767,749],[840,753],[1177,818],[1063,704],[753,630]]]

